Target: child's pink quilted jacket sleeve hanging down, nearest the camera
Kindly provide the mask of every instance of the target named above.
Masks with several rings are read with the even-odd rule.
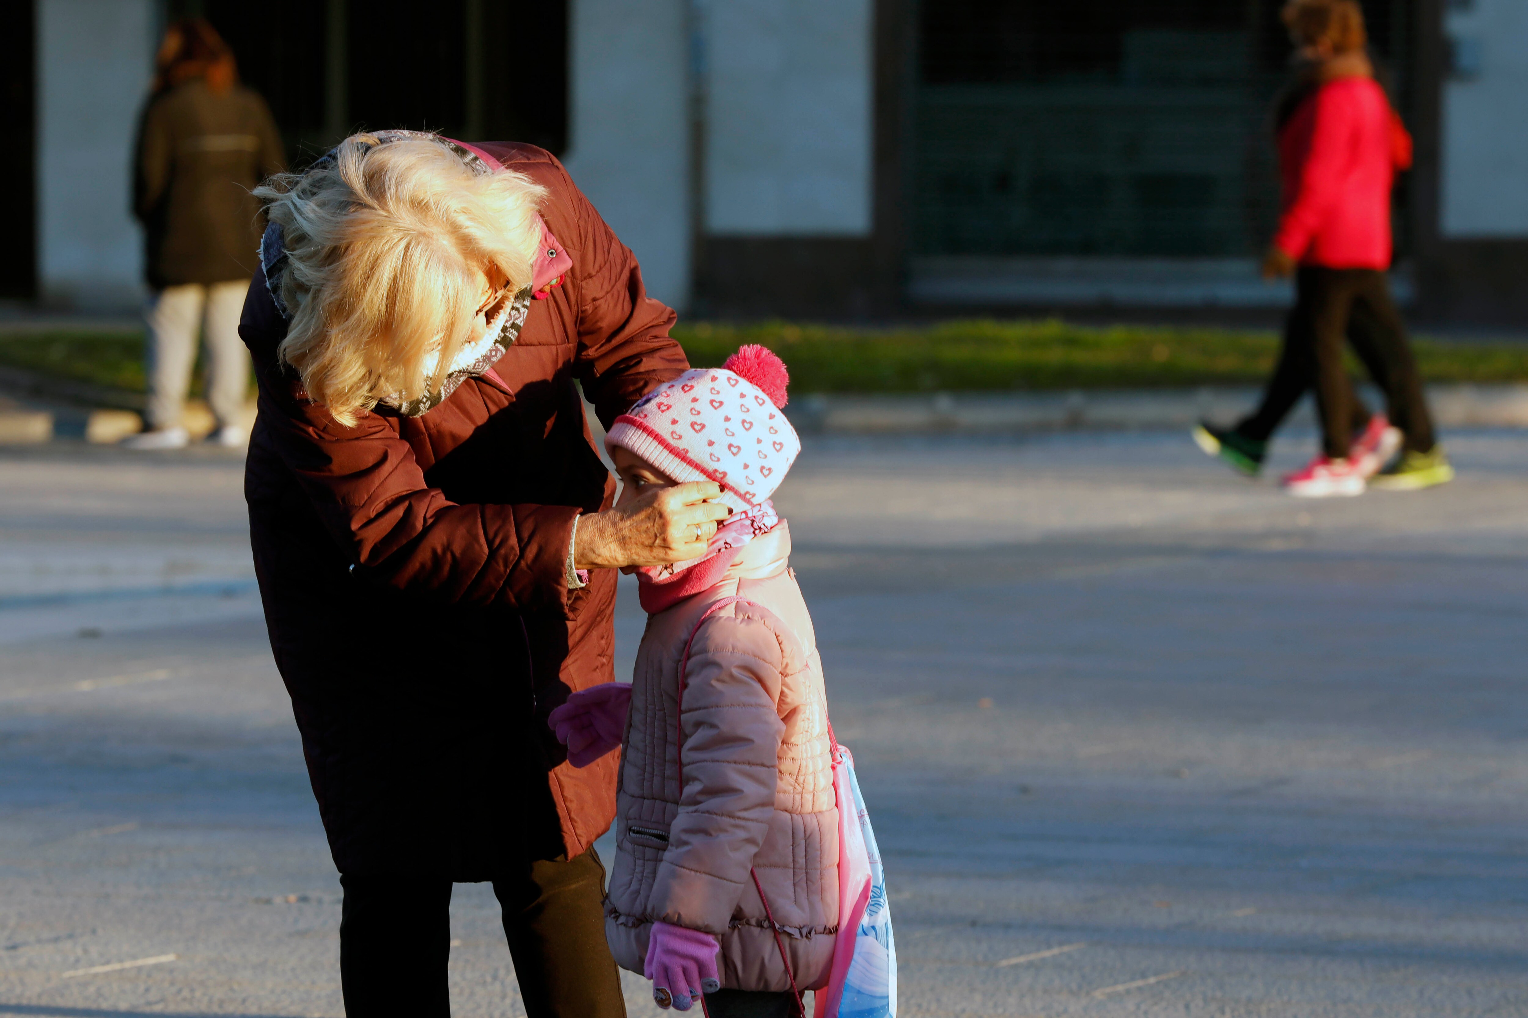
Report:
[[[680,710],[678,815],[652,884],[656,919],[724,934],[769,832],[779,781],[784,653],[761,620],[703,623]]]

